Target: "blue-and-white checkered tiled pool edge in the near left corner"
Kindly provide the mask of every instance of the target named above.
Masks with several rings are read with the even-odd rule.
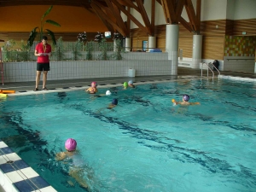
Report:
[[[18,154],[0,139],[0,185],[8,192],[56,192],[48,182],[28,166]]]

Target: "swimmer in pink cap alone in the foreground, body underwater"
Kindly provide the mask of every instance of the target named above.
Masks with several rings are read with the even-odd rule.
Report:
[[[82,157],[79,157],[80,154],[76,150],[77,148],[77,142],[73,138],[68,138],[65,143],[65,148],[67,151],[60,152],[56,154],[55,160],[72,160],[72,164],[70,165],[69,169],[69,175],[72,176],[80,186],[82,186],[85,189],[90,190],[90,186],[88,185],[87,180],[84,178],[84,172],[90,172],[88,167],[85,167],[84,169],[84,160]],[[64,162],[67,163],[67,162]],[[70,185],[74,185],[72,181],[67,181]]]

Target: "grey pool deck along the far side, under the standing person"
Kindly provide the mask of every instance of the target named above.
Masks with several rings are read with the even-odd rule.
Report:
[[[256,73],[242,73],[242,72],[227,72],[221,71],[221,75],[224,76],[232,76],[232,77],[241,77],[241,78],[249,78],[256,79]],[[42,90],[42,77],[39,82],[39,90],[33,92],[45,92]],[[96,81],[97,84],[117,84],[121,85],[125,81],[133,80],[134,83],[137,82],[145,82],[145,81],[155,81],[155,80],[166,80],[166,79],[186,79],[186,78],[200,78],[201,77],[201,69],[192,69],[188,67],[178,67],[177,68],[177,76],[173,75],[164,75],[164,76],[143,76],[143,77],[116,77],[116,78],[99,78],[99,79],[64,79],[64,80],[48,80],[47,88],[49,90],[56,88],[67,88],[67,87],[84,87],[90,86],[91,81]],[[203,70],[203,77],[207,78],[207,70]],[[214,77],[218,77],[218,73],[215,72]],[[36,78],[36,77],[35,77]],[[212,79],[212,72],[209,71],[208,79]],[[35,82],[18,82],[18,83],[5,83],[0,85],[0,89],[3,90],[15,90],[17,91],[31,91],[35,88]],[[42,91],[41,91],[42,90]]]

